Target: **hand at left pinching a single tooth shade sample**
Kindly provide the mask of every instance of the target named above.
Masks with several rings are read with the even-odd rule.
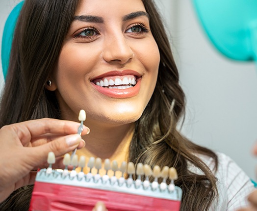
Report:
[[[47,167],[49,152],[56,156],[54,168],[62,168],[60,156],[85,142],[77,134],[79,123],[56,119],[30,120],[0,129],[0,202],[19,187],[35,181],[37,168]],[[82,135],[89,132],[85,126]]]

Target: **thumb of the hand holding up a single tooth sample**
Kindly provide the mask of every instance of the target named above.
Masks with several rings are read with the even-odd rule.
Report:
[[[47,144],[43,144],[37,147],[30,148],[33,150],[34,158],[38,158],[42,162],[42,159],[48,157],[49,152],[53,152],[55,157],[62,156],[65,153],[69,153],[77,148],[81,141],[79,134],[72,134],[57,138]]]

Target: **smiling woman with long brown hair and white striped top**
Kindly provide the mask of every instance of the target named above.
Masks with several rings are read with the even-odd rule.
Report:
[[[0,127],[76,121],[84,109],[91,132],[80,154],[175,167],[181,211],[247,204],[253,185],[244,172],[177,130],[184,93],[152,0],[25,0],[12,46]],[[26,191],[0,209],[27,210]]]

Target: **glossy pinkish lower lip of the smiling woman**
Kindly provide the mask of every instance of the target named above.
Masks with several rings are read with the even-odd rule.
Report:
[[[135,86],[127,89],[109,89],[102,86],[98,86],[92,82],[93,87],[103,95],[106,95],[110,98],[131,98],[136,96],[139,93],[141,86],[141,79],[137,80]]]

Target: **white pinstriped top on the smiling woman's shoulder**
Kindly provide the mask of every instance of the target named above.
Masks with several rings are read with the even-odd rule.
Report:
[[[254,190],[254,185],[249,176],[236,162],[224,153],[216,153],[218,168],[214,170],[214,159],[200,155],[206,165],[217,178],[219,199],[213,204],[214,210],[234,211],[248,205],[246,197]]]

